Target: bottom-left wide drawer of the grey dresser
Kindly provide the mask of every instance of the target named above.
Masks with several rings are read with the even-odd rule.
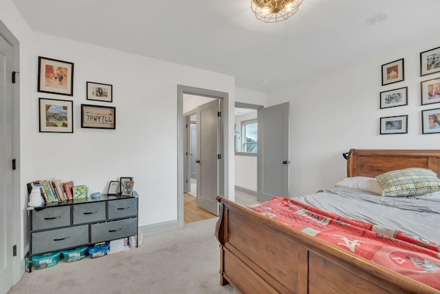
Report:
[[[32,233],[32,254],[89,244],[89,225]]]

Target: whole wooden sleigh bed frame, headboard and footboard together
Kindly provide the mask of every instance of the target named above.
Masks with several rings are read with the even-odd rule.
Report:
[[[408,167],[440,175],[440,150],[351,149],[344,157],[348,176]],[[217,200],[220,283],[239,293],[440,293],[221,196]]]

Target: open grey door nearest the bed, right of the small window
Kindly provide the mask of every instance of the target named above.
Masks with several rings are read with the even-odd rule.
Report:
[[[259,201],[289,197],[289,103],[259,109]]]

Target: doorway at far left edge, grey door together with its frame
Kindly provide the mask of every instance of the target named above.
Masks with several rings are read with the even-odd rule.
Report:
[[[19,41],[0,21],[0,293],[23,273],[19,171]]]

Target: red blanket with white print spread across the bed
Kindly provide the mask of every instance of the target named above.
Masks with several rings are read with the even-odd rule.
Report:
[[[248,208],[440,290],[440,247],[434,242],[288,198],[275,197]]]

